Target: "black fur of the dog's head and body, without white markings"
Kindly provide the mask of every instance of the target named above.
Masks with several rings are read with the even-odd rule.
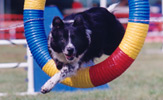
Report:
[[[67,20],[74,20],[74,22],[64,23]],[[87,34],[86,29],[90,30],[91,33]],[[67,44],[68,30],[71,31],[72,43],[77,51],[76,56],[78,57],[86,50],[80,62],[88,62],[102,54],[112,54],[125,32],[121,23],[105,8],[91,8],[67,16],[63,21],[59,17],[55,17],[51,31],[52,37],[48,39],[51,41],[49,47],[55,52],[62,53]],[[90,35],[90,44],[87,35]],[[51,49],[49,51],[52,53]],[[56,58],[54,59],[56,60]]]

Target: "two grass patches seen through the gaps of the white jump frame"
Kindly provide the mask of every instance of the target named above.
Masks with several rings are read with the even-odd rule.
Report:
[[[0,46],[0,63],[25,62],[26,48],[21,46]],[[24,92],[27,90],[24,68],[0,69],[0,92]]]

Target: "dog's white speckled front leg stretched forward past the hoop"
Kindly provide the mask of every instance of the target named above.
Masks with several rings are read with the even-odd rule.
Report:
[[[54,76],[52,76],[42,87],[41,87],[41,93],[45,94],[50,92],[53,87],[61,81],[61,72],[56,73]]]

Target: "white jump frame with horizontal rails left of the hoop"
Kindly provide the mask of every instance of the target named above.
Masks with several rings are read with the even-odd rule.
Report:
[[[0,40],[1,45],[27,45],[25,39],[16,39],[16,40]],[[1,68],[28,68],[27,71],[27,91],[15,93],[15,95],[36,95],[38,93],[34,92],[34,79],[33,79],[33,57],[27,46],[27,62],[12,62],[12,63],[0,63]],[[8,93],[0,93],[0,96],[7,96]]]

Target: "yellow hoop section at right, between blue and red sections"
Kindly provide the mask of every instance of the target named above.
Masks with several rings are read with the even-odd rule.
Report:
[[[148,24],[129,22],[125,36],[119,45],[120,49],[129,57],[136,59],[144,44],[148,27]]]

